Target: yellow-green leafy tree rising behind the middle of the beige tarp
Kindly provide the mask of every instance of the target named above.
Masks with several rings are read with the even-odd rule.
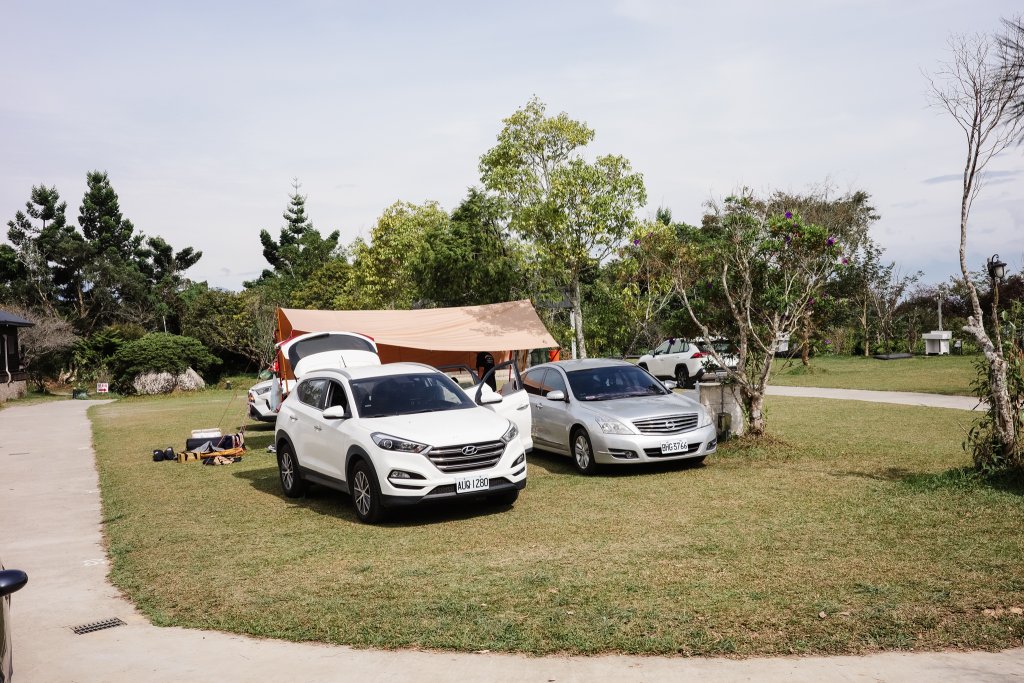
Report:
[[[428,233],[446,229],[447,213],[436,202],[395,202],[377,219],[370,244],[352,245],[352,276],[345,300],[351,308],[411,308],[421,299],[413,276]]]

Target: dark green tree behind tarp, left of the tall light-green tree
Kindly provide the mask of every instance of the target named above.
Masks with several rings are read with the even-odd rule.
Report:
[[[431,222],[410,263],[422,302],[472,306],[525,292],[524,254],[505,233],[499,202],[476,187],[449,221]]]

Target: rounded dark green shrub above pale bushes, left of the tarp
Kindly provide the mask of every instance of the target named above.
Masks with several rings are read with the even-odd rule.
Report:
[[[188,368],[202,373],[219,364],[198,339],[156,332],[122,345],[111,358],[111,370],[118,387],[130,392],[138,375],[168,373],[177,377]]]

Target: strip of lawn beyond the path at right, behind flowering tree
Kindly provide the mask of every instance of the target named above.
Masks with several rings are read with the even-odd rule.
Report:
[[[915,355],[899,360],[876,360],[862,356],[821,355],[804,368],[800,358],[775,361],[772,384],[836,389],[922,391],[971,395],[977,377],[974,355]]]

